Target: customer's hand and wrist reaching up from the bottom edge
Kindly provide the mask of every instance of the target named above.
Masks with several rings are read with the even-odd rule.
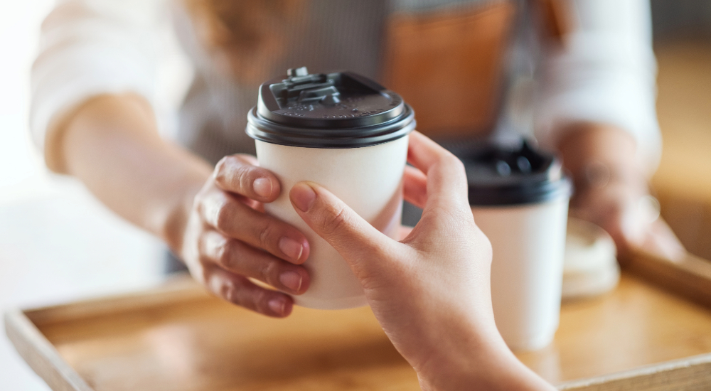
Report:
[[[391,240],[316,183],[290,192],[294,209],[341,253],[388,338],[426,390],[550,390],[510,353],[493,320],[491,245],[474,223],[459,159],[413,132],[405,199],[424,208]]]

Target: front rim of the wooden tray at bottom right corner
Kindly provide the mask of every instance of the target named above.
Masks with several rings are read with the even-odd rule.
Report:
[[[711,384],[711,353],[679,360],[573,380],[558,385],[566,391],[666,391],[708,390]]]

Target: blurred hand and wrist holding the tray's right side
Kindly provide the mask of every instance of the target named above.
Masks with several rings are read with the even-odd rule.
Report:
[[[636,157],[636,141],[616,127],[572,124],[558,144],[572,173],[570,214],[604,228],[624,260],[636,248],[677,259],[685,253],[648,191],[649,173]]]

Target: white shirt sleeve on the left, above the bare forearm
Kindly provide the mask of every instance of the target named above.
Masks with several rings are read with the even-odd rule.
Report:
[[[159,0],[63,0],[42,24],[32,68],[30,130],[45,149],[48,126],[90,97],[135,92],[153,103]]]

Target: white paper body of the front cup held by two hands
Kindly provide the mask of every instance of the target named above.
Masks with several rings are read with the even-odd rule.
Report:
[[[373,227],[397,238],[402,215],[402,172],[407,159],[407,139],[351,149],[315,149],[269,144],[257,140],[260,166],[282,183],[282,194],[264,209],[294,225],[306,235],[311,255],[304,266],[311,285],[294,296],[294,303],[314,309],[346,309],[367,304],[360,282],[326,240],[301,220],[289,191],[299,181],[327,188]]]

